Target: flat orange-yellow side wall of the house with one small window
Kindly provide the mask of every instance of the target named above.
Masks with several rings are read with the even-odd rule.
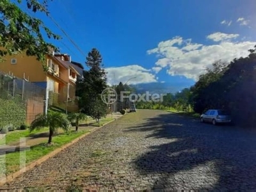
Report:
[[[16,59],[17,63],[12,64],[11,60]],[[26,54],[17,54],[5,56],[3,62],[0,62],[0,70],[5,73],[11,73],[13,76],[25,78],[29,81],[46,81],[45,72],[42,63],[36,60],[35,56],[26,56]]]

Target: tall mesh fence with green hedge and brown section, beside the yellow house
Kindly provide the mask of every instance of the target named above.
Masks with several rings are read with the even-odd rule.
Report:
[[[44,113],[45,88],[0,72],[0,129],[30,124]]]

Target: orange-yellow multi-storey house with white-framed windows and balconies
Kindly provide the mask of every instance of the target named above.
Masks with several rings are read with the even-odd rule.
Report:
[[[82,74],[79,74],[71,63],[71,57],[67,54],[52,52],[45,56],[45,63],[36,60],[35,56],[26,56],[26,54],[6,56],[4,60],[0,62],[0,71],[44,87],[50,106],[68,109],[68,111],[78,109],[74,102],[76,81]]]

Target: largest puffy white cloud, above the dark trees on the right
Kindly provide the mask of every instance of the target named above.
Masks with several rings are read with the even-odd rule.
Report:
[[[248,56],[248,49],[252,49],[256,42],[230,41],[237,36],[239,35],[214,33],[207,36],[214,40],[211,45],[194,44],[191,40],[176,36],[172,40],[161,42],[147,53],[161,55],[156,67],[166,68],[166,72],[171,76],[184,76],[196,81],[200,74],[205,73],[205,68],[211,67],[216,60],[232,61],[234,58]],[[173,44],[178,40],[179,44]],[[188,44],[193,49],[186,49]]]

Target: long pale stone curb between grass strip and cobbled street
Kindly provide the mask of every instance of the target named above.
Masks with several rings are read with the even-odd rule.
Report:
[[[28,164],[28,166],[25,166],[24,168],[22,168],[21,170],[15,172],[15,173],[11,173],[10,175],[7,175],[5,178],[0,178],[0,186],[3,186],[4,184],[11,182],[13,179],[15,179],[16,177],[18,177],[19,175],[21,175],[24,172],[27,172],[28,170],[31,170],[33,168],[35,168],[35,166],[38,166],[39,164],[43,163],[44,161],[46,161],[47,159],[55,156],[56,154],[58,154],[59,152],[61,152],[62,150],[64,150],[65,148],[70,147],[71,145],[73,145],[74,143],[77,143],[77,141],[83,139],[84,137],[88,136],[89,134],[97,131],[98,129],[104,127],[105,125],[110,124],[111,122],[114,122],[117,118],[114,118],[113,120],[106,122],[106,124],[100,126],[100,127],[96,127],[95,129],[93,129],[90,132],[86,132],[85,134],[79,136],[78,138],[76,138],[75,140],[70,141],[69,143],[61,146],[60,148],[56,148],[56,150],[52,151],[51,153],[40,157],[40,159],[37,159],[35,161],[32,161],[30,164]]]

